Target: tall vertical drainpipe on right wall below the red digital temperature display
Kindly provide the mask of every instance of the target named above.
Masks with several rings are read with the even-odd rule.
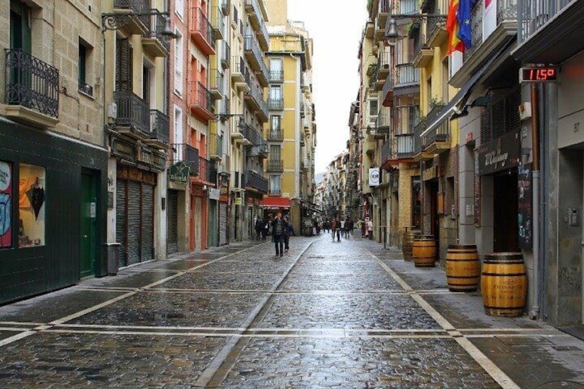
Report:
[[[529,317],[539,317],[539,90],[536,83],[531,84],[531,128],[532,128],[532,206],[533,206],[533,291],[532,308]]]

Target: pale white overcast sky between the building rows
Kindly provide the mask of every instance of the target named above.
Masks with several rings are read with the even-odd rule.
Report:
[[[366,0],[288,0],[288,18],[304,21],[314,41],[315,172],[346,149],[348,112],[357,98],[357,52],[367,18]]]

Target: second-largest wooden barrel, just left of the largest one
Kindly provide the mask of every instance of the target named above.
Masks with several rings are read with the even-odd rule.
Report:
[[[446,252],[446,281],[451,292],[472,292],[479,287],[481,265],[475,244],[450,244]]]

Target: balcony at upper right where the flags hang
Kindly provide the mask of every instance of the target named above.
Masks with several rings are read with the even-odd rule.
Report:
[[[495,0],[493,0],[495,1]],[[483,36],[483,6],[477,3],[471,12],[471,47],[463,53],[463,65],[450,78],[450,85],[463,87],[479,66],[486,63],[517,35],[517,0],[497,0],[497,27]],[[494,71],[492,69],[491,71]]]

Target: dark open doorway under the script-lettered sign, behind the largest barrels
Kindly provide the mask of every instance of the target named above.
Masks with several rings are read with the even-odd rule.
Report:
[[[519,251],[517,169],[495,175],[493,188],[493,249]]]

